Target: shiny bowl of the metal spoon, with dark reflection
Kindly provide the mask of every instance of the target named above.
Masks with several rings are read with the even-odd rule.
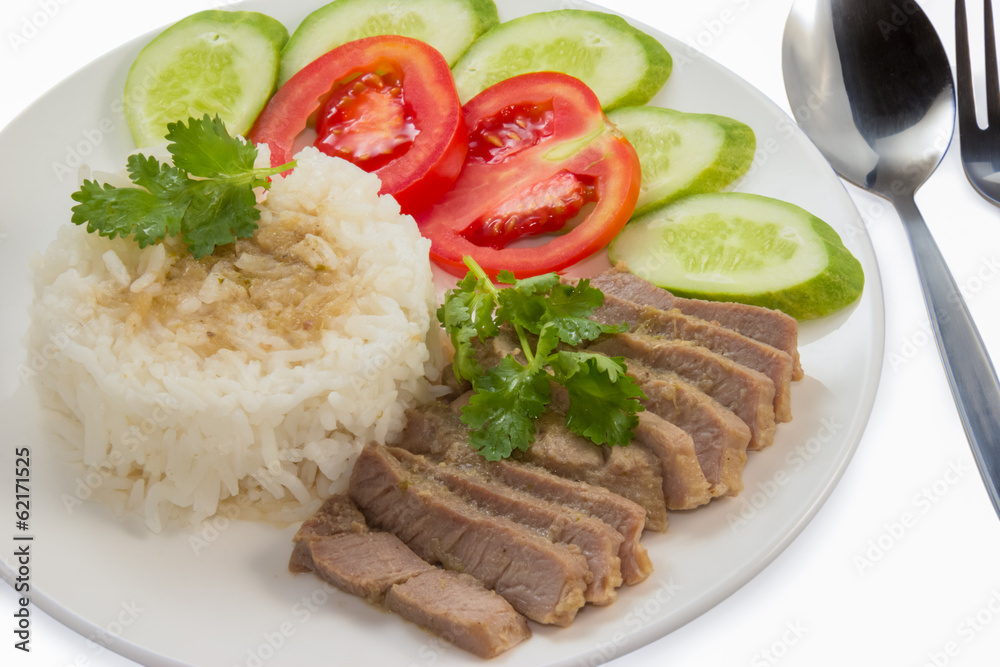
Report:
[[[955,125],[951,67],[915,3],[798,0],[782,67],[796,120],[837,172],[893,199],[944,157]]]

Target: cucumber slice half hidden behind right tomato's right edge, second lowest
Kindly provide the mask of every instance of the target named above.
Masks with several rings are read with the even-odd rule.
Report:
[[[757,139],[743,123],[661,107],[608,112],[635,148],[642,184],[634,216],[687,195],[717,192],[745,174]]]

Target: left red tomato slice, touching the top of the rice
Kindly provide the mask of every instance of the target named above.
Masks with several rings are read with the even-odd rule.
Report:
[[[249,138],[267,143],[279,166],[313,117],[316,147],[377,174],[404,213],[448,189],[468,148],[448,63],[409,37],[367,37],[320,56],[275,93]]]

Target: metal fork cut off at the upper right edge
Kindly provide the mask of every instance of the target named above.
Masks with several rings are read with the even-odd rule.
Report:
[[[958,135],[962,165],[969,182],[986,199],[1000,206],[1000,77],[997,74],[997,45],[993,33],[993,7],[983,0],[986,41],[986,127],[976,120],[972,92],[972,64],[969,56],[969,27],[965,0],[955,3],[955,50],[958,66]]]

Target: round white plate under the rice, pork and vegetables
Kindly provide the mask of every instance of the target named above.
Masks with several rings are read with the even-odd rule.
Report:
[[[248,2],[295,26],[320,0]],[[501,17],[557,8],[556,0],[498,3]],[[579,3],[574,3],[577,6]],[[655,30],[674,56],[655,104],[738,118],[757,133],[758,164],[739,189],[791,201],[837,229],[867,285],[847,312],[801,328],[807,377],[793,388],[795,421],[752,453],[740,497],[671,515],[645,543],[656,570],[611,607],[587,608],[570,628],[534,637],[493,664],[598,664],[671,632],[718,604],[777,556],[837,483],[875,397],[884,346],[882,291],[871,243],[840,181],[794,123],[745,81]],[[14,488],[14,450],[31,449],[32,600],[84,636],[144,664],[454,665],[479,661],[414,626],[286,565],[294,528],[217,518],[198,530],[152,535],[85,497],[87,479],[50,454],[21,344],[31,300],[28,259],[69,224],[76,167],[118,169],[131,149],[121,89],[150,35],[97,60],[0,133],[0,488]],[[72,114],[66,110],[72,109]],[[13,518],[10,518],[13,524]],[[11,529],[13,526],[11,527]],[[0,571],[16,576],[13,549]],[[349,658],[347,657],[349,656]]]

